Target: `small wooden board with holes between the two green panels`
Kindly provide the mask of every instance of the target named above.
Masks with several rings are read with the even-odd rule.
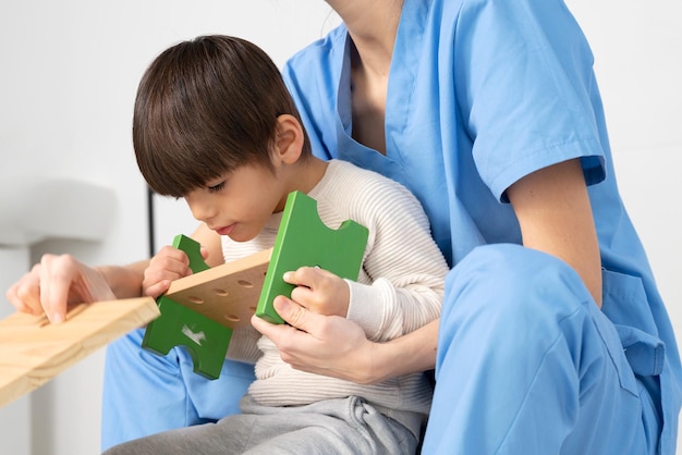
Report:
[[[271,253],[266,249],[175,280],[166,297],[227,328],[249,325]]]

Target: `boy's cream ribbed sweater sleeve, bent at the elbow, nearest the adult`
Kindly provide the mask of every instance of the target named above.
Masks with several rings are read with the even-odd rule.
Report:
[[[348,281],[346,317],[368,339],[388,341],[439,317],[449,267],[422,206],[402,185],[379,181],[361,206],[370,232],[363,263],[370,284]]]

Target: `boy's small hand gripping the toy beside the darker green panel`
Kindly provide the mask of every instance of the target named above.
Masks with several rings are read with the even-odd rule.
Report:
[[[202,248],[202,256],[206,257]],[[192,274],[187,255],[170,245],[165,246],[149,261],[142,281],[142,294],[157,298],[170,286],[171,281]]]

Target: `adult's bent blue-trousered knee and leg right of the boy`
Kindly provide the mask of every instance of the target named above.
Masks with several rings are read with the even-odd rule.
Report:
[[[474,249],[449,274],[424,454],[654,454],[656,377],[561,260]],[[646,384],[646,386],[645,386]]]

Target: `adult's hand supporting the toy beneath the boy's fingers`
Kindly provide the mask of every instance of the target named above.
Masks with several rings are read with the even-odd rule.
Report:
[[[293,368],[361,384],[381,379],[374,378],[377,345],[355,322],[315,313],[284,296],[276,297],[273,305],[290,325],[271,324],[257,316],[252,317],[252,324],[277,345],[282,360]]]

